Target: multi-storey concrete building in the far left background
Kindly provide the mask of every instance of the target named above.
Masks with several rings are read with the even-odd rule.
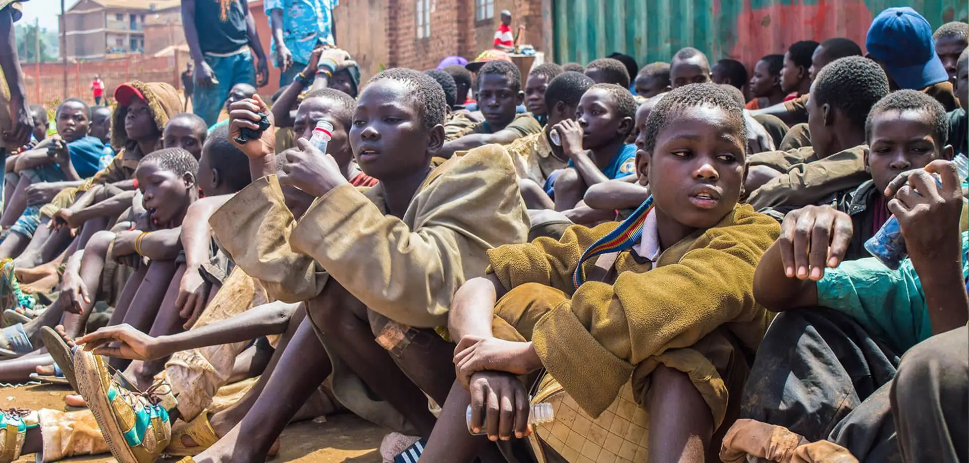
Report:
[[[154,20],[154,15],[172,8],[177,13],[179,3],[179,0],[79,0],[62,21],[67,46],[60,50],[61,57],[66,54],[69,61],[97,61],[144,52],[148,16]]]

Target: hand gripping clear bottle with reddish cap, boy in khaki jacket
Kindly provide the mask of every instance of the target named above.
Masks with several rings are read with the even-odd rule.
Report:
[[[321,153],[307,139],[297,139],[299,150],[286,152],[286,164],[279,174],[279,184],[298,189],[320,198],[330,190],[347,183],[332,156]]]

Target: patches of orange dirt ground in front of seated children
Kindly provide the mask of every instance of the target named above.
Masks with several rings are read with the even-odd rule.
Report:
[[[0,387],[0,408],[21,407],[64,409],[67,386]],[[303,421],[291,424],[283,431],[279,456],[272,462],[299,463],[380,463],[377,448],[387,431],[354,415],[328,417],[326,422]],[[32,463],[34,455],[27,455],[16,463]],[[88,458],[72,458],[70,462],[108,463],[115,461],[110,454]],[[177,461],[176,458],[164,460]]]

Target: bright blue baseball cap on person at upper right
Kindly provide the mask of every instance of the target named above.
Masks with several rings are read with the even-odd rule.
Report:
[[[922,90],[949,80],[935,54],[932,26],[909,7],[890,8],[876,16],[864,46],[901,88]]]

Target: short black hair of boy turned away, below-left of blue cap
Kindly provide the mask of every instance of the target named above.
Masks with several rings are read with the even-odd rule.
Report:
[[[889,94],[889,77],[878,63],[861,56],[832,61],[814,79],[811,99],[816,106],[829,105],[844,112],[862,127],[871,107]]]

